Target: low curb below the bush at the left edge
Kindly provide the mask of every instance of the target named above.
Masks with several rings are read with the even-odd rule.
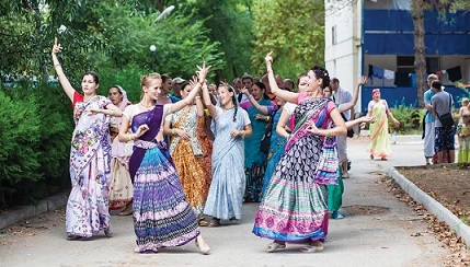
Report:
[[[41,200],[37,205],[20,206],[0,213],[0,229],[37,214],[53,211],[67,204],[69,191]]]

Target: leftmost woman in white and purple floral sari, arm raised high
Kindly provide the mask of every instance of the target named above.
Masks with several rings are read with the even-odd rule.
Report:
[[[60,85],[72,102],[76,128],[70,149],[70,179],[72,190],[67,201],[66,230],[68,240],[90,239],[110,230],[110,115],[122,116],[121,109],[104,96],[96,95],[99,78],[94,72],[82,77],[79,94],[60,67],[57,54],[61,50],[57,38],[53,47],[54,69]]]

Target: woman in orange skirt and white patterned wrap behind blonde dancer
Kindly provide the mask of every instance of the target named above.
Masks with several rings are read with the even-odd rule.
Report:
[[[182,97],[186,97],[193,86],[185,82],[181,86]],[[205,171],[204,151],[197,135],[199,118],[204,116],[204,106],[200,96],[196,96],[196,104],[187,105],[164,121],[164,134],[171,136],[170,154],[180,176],[186,200],[193,207],[199,225],[206,227],[204,220],[204,204],[208,193]]]

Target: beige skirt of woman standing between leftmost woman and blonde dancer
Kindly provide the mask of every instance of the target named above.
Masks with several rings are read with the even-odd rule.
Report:
[[[117,210],[133,201],[134,186],[127,163],[111,160],[110,209]]]

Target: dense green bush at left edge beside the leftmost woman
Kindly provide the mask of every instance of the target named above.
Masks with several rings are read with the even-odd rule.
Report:
[[[0,88],[0,209],[34,202],[70,185],[71,108],[58,90]]]

